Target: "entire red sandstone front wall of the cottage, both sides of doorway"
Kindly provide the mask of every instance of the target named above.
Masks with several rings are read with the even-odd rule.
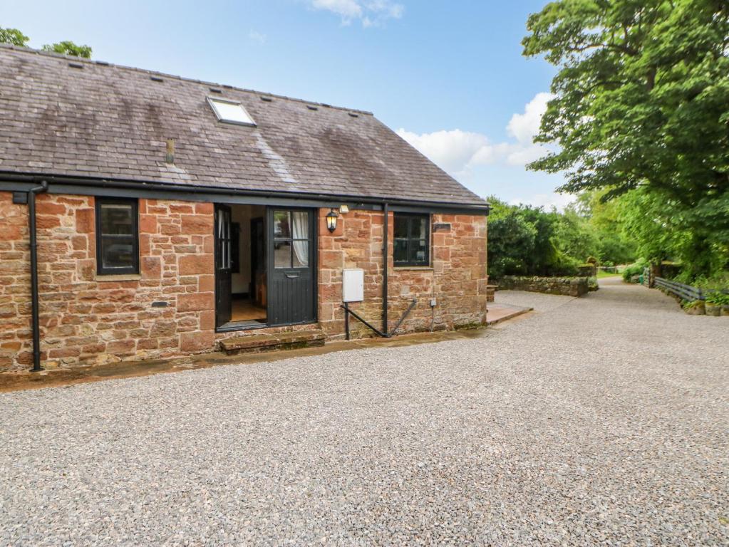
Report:
[[[352,308],[381,328],[383,213],[351,210],[330,234],[328,212],[319,210],[319,326],[331,338],[344,336],[342,269],[362,268],[365,299]],[[395,268],[390,213],[389,328],[418,300],[398,332],[486,320],[486,217],[433,215],[432,221],[450,225],[432,233],[432,266]],[[37,226],[47,368],[200,353],[217,349],[225,337],[312,328],[215,333],[211,203],[139,200],[137,276],[96,275],[93,197],[40,194]],[[0,370],[31,365],[29,268],[28,207],[0,192]],[[371,335],[356,320],[352,330],[354,336]]]

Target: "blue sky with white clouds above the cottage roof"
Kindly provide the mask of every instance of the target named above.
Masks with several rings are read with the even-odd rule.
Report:
[[[3,0],[32,47],[370,110],[477,194],[564,205],[529,172],[555,69],[521,55],[546,0]]]

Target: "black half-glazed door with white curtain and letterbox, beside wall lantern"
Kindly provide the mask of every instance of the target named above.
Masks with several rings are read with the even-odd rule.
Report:
[[[313,210],[268,208],[268,324],[316,320]]]

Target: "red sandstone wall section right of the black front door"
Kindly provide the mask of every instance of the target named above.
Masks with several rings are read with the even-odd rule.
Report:
[[[381,211],[351,210],[340,216],[333,234],[327,230],[328,209],[319,211],[319,323],[332,338],[344,336],[342,269],[364,269],[364,302],[352,310],[382,328],[383,226]],[[432,216],[432,224],[450,224],[433,232],[431,267],[394,267],[393,214],[389,213],[389,328],[410,302],[418,304],[398,332],[443,330],[483,324],[486,320],[486,217]],[[436,299],[432,309],[430,299]],[[354,337],[372,333],[351,321]]]

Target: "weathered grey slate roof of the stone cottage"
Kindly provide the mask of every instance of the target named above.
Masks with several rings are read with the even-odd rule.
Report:
[[[257,127],[219,122],[208,96]],[[486,205],[370,112],[10,46],[0,172]]]

